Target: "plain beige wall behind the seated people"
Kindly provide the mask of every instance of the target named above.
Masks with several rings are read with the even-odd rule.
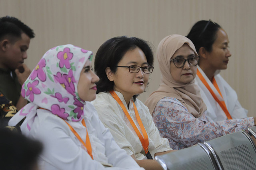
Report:
[[[15,16],[36,33],[26,64],[33,69],[44,52],[72,43],[96,53],[107,39],[136,36],[154,45],[178,33],[186,35],[198,20],[211,19],[228,33],[232,57],[221,72],[249,115],[256,116],[255,0],[0,0],[0,16]],[[150,76],[143,102],[158,88],[160,71]]]

